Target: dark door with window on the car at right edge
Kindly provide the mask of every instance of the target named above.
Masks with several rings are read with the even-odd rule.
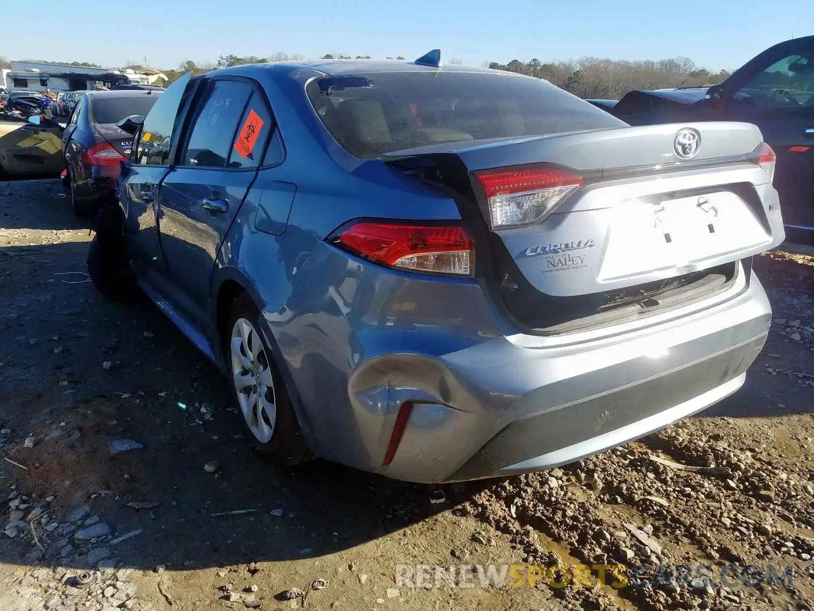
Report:
[[[777,154],[783,222],[814,229],[814,37],[772,47],[734,73],[717,114],[760,128]]]

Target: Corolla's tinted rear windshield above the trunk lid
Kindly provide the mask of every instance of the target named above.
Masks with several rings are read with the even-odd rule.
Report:
[[[492,73],[360,73],[310,81],[306,93],[352,156],[433,144],[624,125],[535,78]]]

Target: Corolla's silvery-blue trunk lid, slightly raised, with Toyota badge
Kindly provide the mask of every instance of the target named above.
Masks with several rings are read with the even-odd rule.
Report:
[[[425,147],[392,157],[396,165],[457,160],[447,163],[457,170],[444,181],[479,205],[488,242],[504,248],[537,291],[572,297],[686,275],[780,244],[771,176],[759,165],[762,141],[755,125],[718,122]],[[540,213],[511,222],[513,206],[530,205]]]

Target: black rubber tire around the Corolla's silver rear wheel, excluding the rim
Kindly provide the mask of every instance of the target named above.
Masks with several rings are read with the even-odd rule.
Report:
[[[238,391],[234,386],[231,337],[234,323],[236,323],[238,319],[246,319],[252,323],[257,335],[260,336],[260,341],[263,343],[263,349],[265,350],[265,355],[272,371],[276,418],[274,421],[274,433],[272,433],[271,439],[265,443],[260,442],[260,440],[254,436],[254,433],[252,433],[252,429],[249,428],[246,418],[243,416],[243,411],[240,409],[240,403],[237,397]],[[232,305],[229,322],[223,329],[223,345],[226,371],[230,380],[229,385],[232,389],[234,405],[237,407],[238,417],[243,425],[243,432],[255,451],[278,466],[299,464],[311,458],[312,455],[302,437],[300,424],[297,422],[294,408],[291,405],[291,397],[280,373],[274,350],[269,346],[269,342],[266,341],[264,327],[260,320],[260,311],[245,293],[235,299]]]

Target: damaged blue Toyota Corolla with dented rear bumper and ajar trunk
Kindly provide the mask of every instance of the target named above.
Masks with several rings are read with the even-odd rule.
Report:
[[[134,280],[277,464],[548,468],[719,401],[764,345],[754,125],[630,127],[438,53],[187,75],[119,125],[91,279]]]

